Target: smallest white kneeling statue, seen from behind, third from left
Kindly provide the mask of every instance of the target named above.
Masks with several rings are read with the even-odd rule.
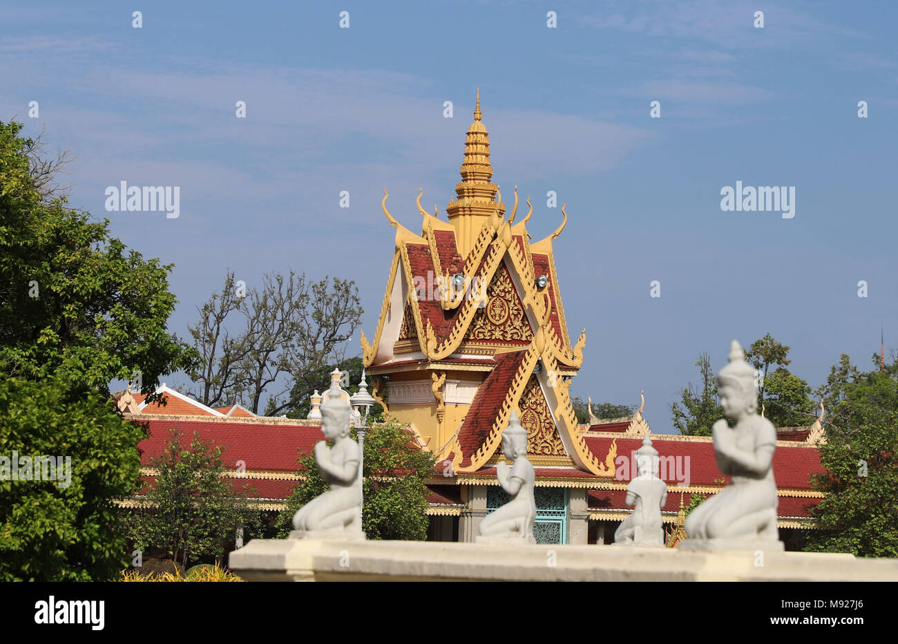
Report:
[[[634,506],[633,513],[614,531],[614,543],[664,546],[661,509],[667,502],[667,484],[658,476],[659,465],[658,452],[646,436],[636,452],[637,476],[627,486],[626,502]]]

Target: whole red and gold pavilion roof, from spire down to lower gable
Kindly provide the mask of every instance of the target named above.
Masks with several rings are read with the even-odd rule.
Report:
[[[571,345],[552,251],[567,224],[566,206],[561,207],[561,225],[533,243],[526,227],[533,206],[515,223],[515,187],[515,203],[506,217],[499,188],[490,183],[492,172],[489,132],[478,98],[465,139],[462,181],[455,186],[457,198],[446,206],[447,220],[436,216],[436,207],[432,215],[427,213],[418,194],[423,219],[421,234],[414,234],[390,214],[384,190],[381,205],[396,229],[395,250],[372,341],[362,333],[365,367],[373,375],[418,366],[491,370],[461,426],[437,448],[438,457],[451,456],[453,466],[467,472],[496,452],[509,412],[525,393],[533,393],[529,379],[541,366],[547,375],[539,379],[541,400],[534,404],[542,417],[534,410],[533,423],[539,425],[550,414],[558,426],[553,433],[577,467],[609,472],[607,463],[599,463],[578,437],[569,382],[563,380],[583,363],[586,341],[584,330]],[[544,449],[556,452],[560,443]]]

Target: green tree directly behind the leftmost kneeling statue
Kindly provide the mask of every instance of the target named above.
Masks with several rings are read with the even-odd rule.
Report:
[[[352,436],[355,437],[355,430]],[[423,450],[409,428],[393,419],[365,434],[362,527],[368,539],[422,541],[427,538],[425,482],[433,475],[434,454]],[[277,519],[281,536],[293,529],[293,516],[327,490],[313,454],[300,454],[301,477]]]

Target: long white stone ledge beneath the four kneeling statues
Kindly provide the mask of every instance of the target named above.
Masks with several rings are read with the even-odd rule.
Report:
[[[766,551],[758,561],[755,551],[254,539],[229,566],[248,581],[898,581],[898,560]]]

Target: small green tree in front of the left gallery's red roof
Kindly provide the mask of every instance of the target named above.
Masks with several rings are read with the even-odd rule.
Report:
[[[252,524],[247,485],[229,480],[222,446],[205,442],[195,433],[189,445],[177,430],[154,459],[155,481],[140,498],[141,507],[128,512],[128,534],[136,547],[151,546],[172,554],[187,567],[189,561],[225,554],[239,525]]]

